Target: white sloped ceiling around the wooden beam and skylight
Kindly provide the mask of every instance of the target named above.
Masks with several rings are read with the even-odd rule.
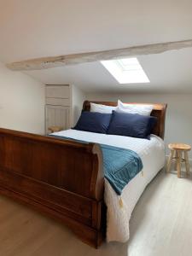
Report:
[[[0,60],[192,38],[192,1],[1,0]],[[150,84],[118,84],[99,62],[30,71],[44,84],[85,91],[192,92],[192,49],[139,56]]]

